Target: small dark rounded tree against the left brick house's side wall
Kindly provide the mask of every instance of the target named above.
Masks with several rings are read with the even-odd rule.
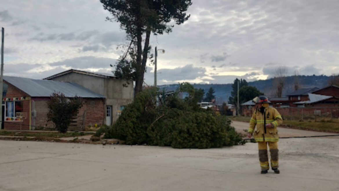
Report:
[[[72,117],[76,116],[82,107],[79,97],[66,98],[63,93],[53,93],[48,100],[48,121],[52,121],[60,133],[66,133]]]

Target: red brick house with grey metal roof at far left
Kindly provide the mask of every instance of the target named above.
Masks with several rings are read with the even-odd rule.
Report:
[[[47,122],[47,101],[54,92],[66,97],[83,99],[79,116],[83,125],[104,124],[105,97],[76,83],[34,80],[22,77],[4,76],[4,98],[2,102],[2,129],[33,130],[54,128]]]

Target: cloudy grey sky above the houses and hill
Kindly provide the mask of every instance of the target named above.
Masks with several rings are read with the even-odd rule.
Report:
[[[158,84],[232,83],[339,72],[338,0],[192,0],[191,17],[173,32],[151,36]],[[68,70],[111,72],[126,43],[99,0],[1,0],[4,74],[42,79]],[[145,82],[152,85],[154,66]]]

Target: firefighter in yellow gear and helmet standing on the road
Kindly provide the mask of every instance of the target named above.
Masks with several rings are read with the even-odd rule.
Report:
[[[251,138],[253,134],[258,142],[261,174],[266,174],[270,169],[267,144],[271,152],[271,168],[274,173],[279,174],[277,126],[282,123],[282,118],[275,108],[269,107],[271,102],[268,101],[267,97],[261,95],[254,98],[253,101],[256,103],[256,108],[250,121],[247,136]],[[255,127],[257,128],[255,129]]]

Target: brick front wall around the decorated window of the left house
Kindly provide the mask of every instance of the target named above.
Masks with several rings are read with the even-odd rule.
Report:
[[[17,98],[17,97],[27,97],[27,98],[29,98],[29,95],[27,95],[25,92],[19,90],[15,86],[8,84],[7,93],[6,93],[6,96],[4,98]],[[23,121],[6,120],[6,110],[5,110],[4,129],[20,130],[20,128],[21,128],[22,130],[29,130],[29,102],[30,102],[30,100],[23,100],[22,102],[23,102],[23,112],[26,112],[27,119],[24,119]],[[5,104],[6,103],[7,102],[5,102]]]

